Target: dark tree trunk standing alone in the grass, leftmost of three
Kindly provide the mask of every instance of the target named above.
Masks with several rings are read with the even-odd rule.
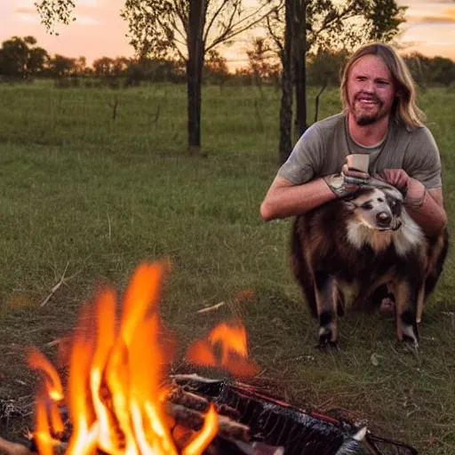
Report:
[[[201,148],[201,86],[204,68],[204,11],[206,0],[190,0],[188,12],[188,150]]]

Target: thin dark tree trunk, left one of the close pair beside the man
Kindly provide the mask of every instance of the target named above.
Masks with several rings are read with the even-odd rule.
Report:
[[[294,1],[286,0],[284,44],[281,61],[283,66],[281,78],[281,107],[280,107],[280,145],[279,160],[283,164],[291,154],[292,148],[292,40]]]

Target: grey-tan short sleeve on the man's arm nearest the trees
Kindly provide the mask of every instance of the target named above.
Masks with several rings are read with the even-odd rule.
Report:
[[[318,176],[322,153],[322,135],[317,125],[313,124],[300,136],[278,175],[294,185],[307,183]]]

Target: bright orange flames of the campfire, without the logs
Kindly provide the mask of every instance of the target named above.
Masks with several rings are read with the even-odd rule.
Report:
[[[52,364],[35,348],[28,354],[31,368],[44,372],[43,390],[36,397],[34,437],[40,455],[51,455],[64,426],[59,408],[67,404],[72,426],[68,455],[199,455],[218,432],[218,414],[211,404],[199,432],[188,434],[177,449],[175,422],[166,414],[166,336],[158,314],[161,282],[167,264],[141,264],[132,275],[116,318],[116,293],[108,288],[80,312],[68,356],[68,387],[64,392]],[[94,315],[94,316],[93,316]],[[229,336],[226,326],[211,340]],[[238,336],[238,334],[236,335]],[[230,348],[245,355],[241,335]],[[223,351],[223,364],[231,361]],[[213,357],[214,360],[214,357]],[[181,433],[181,432],[180,432]],[[181,447],[181,446],[180,446]]]

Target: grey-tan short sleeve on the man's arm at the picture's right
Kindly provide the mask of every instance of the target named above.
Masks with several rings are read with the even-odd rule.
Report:
[[[406,154],[406,168],[412,179],[419,180],[428,189],[442,187],[441,156],[427,127],[420,128],[412,138]]]

